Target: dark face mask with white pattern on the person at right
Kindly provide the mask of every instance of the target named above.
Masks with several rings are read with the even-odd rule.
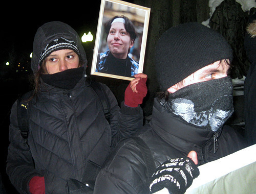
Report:
[[[160,104],[190,124],[218,131],[233,113],[232,92],[231,79],[225,77],[188,85]]]

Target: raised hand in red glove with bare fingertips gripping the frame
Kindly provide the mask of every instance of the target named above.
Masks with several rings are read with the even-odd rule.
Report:
[[[136,74],[134,77],[135,79],[130,82],[124,92],[124,104],[129,107],[137,107],[142,104],[147,93],[147,75]]]

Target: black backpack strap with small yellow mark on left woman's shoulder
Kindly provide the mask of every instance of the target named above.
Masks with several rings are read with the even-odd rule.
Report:
[[[29,115],[31,100],[28,101],[28,99],[30,98],[31,94],[32,91],[29,91],[25,94],[19,95],[17,99],[18,126],[24,139],[28,138],[29,133]]]

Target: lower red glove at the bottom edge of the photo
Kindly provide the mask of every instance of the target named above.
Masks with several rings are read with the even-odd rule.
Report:
[[[45,177],[35,176],[29,181],[29,191],[32,194],[45,194]]]

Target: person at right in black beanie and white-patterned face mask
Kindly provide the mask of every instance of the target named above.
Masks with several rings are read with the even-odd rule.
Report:
[[[200,23],[183,23],[164,32],[156,45],[155,62],[162,92],[139,137],[150,148],[155,166],[163,164],[158,170],[173,178],[163,184],[165,174],[159,179],[156,171],[148,186],[151,177],[145,173],[145,160],[136,144],[125,139],[105,162],[94,193],[148,193],[150,189],[153,193],[163,187],[169,193],[183,193],[189,184],[179,180],[182,184],[174,185],[178,175],[168,173],[176,167],[180,171],[175,161],[183,163],[195,151],[201,165],[247,147],[240,133],[224,125],[233,112],[231,61],[232,50],[224,37]],[[191,177],[189,181],[195,175]]]

